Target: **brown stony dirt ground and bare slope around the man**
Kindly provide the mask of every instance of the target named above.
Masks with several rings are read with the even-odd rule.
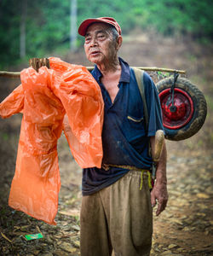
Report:
[[[167,141],[170,199],[166,210],[159,217],[154,217],[152,256],[213,255],[213,47],[195,44],[190,39],[183,41],[180,38],[147,36],[141,32],[135,34],[124,38],[120,50],[124,60],[132,66],[187,70],[187,78],[204,92],[208,104],[206,121],[196,135],[181,142]],[[71,63],[90,65],[83,50],[60,57]],[[23,67],[27,64],[11,67],[11,70]],[[0,101],[19,83],[19,79],[0,78]],[[58,143],[61,189],[55,218],[57,225],[50,226],[8,207],[20,120],[21,114],[0,120],[0,255],[80,255],[82,171],[72,159],[64,136]],[[26,235],[37,233],[42,233],[43,238],[26,241]]]

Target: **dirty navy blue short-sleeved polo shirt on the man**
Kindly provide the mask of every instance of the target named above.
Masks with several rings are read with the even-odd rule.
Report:
[[[118,94],[112,103],[101,83],[101,71],[95,66],[91,72],[101,87],[105,103],[102,130],[103,164],[136,166],[151,170],[153,160],[149,155],[149,139],[157,130],[164,130],[158,92],[147,73],[143,75],[147,99],[148,129],[145,129],[143,102],[133,69],[119,58],[122,68]],[[83,169],[82,192],[91,195],[123,177],[129,170],[110,167],[108,171],[96,167]]]

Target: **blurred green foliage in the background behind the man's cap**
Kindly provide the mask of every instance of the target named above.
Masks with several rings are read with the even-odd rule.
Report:
[[[0,68],[20,60],[20,20],[27,3],[26,57],[49,56],[69,49],[70,0],[1,0]],[[206,42],[213,38],[211,0],[78,0],[78,25],[89,17],[112,16],[124,34],[135,27],[164,35],[190,34]],[[83,38],[78,38],[78,44]]]

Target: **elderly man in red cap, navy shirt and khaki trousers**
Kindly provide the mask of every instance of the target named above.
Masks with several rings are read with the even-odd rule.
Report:
[[[122,44],[118,22],[108,17],[88,19],[78,32],[85,38],[87,58],[95,63],[92,75],[105,103],[102,168],[83,169],[81,255],[107,256],[112,250],[117,256],[149,255],[152,207],[158,200],[158,215],[168,200],[165,145],[151,195],[148,186],[153,166],[149,145],[153,149],[156,131],[163,130],[158,93],[144,73],[146,131],[135,73],[118,58]]]

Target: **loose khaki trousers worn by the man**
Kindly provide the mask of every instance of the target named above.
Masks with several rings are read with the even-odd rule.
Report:
[[[147,256],[153,236],[153,210],[147,173],[130,171],[118,182],[83,196],[81,256]]]

